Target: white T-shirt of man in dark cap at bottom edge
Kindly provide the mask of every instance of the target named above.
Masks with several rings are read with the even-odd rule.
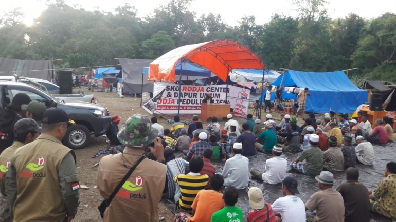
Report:
[[[280,212],[282,222],[305,222],[307,220],[304,202],[298,196],[280,197],[271,207],[274,213]]]

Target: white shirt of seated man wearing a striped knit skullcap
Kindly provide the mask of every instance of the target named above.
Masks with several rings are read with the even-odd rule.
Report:
[[[265,162],[265,172],[263,173],[263,181],[268,184],[279,184],[286,176],[287,160],[274,156]]]

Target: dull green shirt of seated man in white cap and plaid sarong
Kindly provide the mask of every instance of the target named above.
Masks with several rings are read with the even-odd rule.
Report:
[[[298,160],[307,159],[304,169],[307,170],[309,176],[317,176],[323,170],[323,152],[317,146],[310,146],[310,148],[302,151]]]

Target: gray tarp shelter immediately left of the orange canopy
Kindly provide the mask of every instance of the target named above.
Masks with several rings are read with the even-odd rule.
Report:
[[[143,92],[153,92],[154,82],[150,82],[148,79],[148,74],[143,74],[143,67],[147,67],[153,60],[149,59],[129,59],[129,58],[119,58],[118,63],[121,66],[122,73],[122,83],[124,85],[124,92],[127,93],[141,93]],[[143,75],[143,88],[141,87]]]

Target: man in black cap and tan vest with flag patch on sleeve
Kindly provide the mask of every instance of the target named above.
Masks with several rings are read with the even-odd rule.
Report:
[[[65,111],[48,109],[41,134],[15,151],[7,173],[6,195],[14,221],[71,221],[79,206],[76,155],[62,145],[69,120]]]

